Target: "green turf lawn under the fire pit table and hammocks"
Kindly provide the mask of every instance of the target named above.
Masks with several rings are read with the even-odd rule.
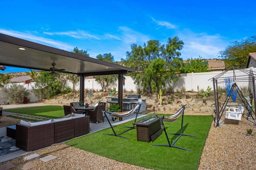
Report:
[[[116,133],[121,133],[126,129],[123,126],[131,126],[132,123],[133,121],[130,121],[115,126],[114,129]],[[109,128],[73,139],[66,144],[107,158],[146,168],[159,170],[196,170],[211,123],[212,116],[184,115],[183,133],[196,135],[198,138],[182,136],[175,145],[190,149],[192,152],[170,147],[151,146],[151,144],[168,144],[164,132],[153,143],[137,141],[136,129],[122,134],[124,137],[130,138],[130,140],[103,135],[103,133],[113,133]],[[178,119],[174,123],[164,122],[164,125],[167,128],[167,133],[178,133],[180,131],[181,119]],[[169,135],[170,142],[173,142],[176,137],[178,135]]]

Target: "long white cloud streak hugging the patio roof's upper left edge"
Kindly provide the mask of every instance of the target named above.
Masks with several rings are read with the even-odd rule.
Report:
[[[64,50],[70,50],[73,49],[72,46],[63,43],[61,41],[56,41],[53,39],[48,39],[40,36],[33,35],[32,33],[25,33],[25,32],[20,32],[20,31],[13,31],[13,30],[6,30],[6,29],[0,29],[0,33],[7,34],[13,37],[18,37],[22,39],[26,39],[28,41],[33,41],[36,43],[42,43],[44,45],[50,45],[59,49],[64,49]]]

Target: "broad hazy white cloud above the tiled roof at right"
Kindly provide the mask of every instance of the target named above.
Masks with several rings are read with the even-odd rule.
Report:
[[[218,34],[194,33],[184,29],[178,31],[177,35],[184,42],[181,51],[183,59],[197,58],[199,55],[205,59],[217,58],[218,53],[225,50],[225,47],[229,44],[226,37]]]

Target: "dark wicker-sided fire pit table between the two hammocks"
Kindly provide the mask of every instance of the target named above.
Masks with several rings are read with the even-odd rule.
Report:
[[[133,123],[137,126],[137,141],[148,142],[156,140],[161,134],[161,123],[158,117],[146,117]]]

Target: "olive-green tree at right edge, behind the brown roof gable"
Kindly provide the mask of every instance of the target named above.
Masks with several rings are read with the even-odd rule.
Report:
[[[226,68],[232,66],[246,67],[249,53],[256,52],[256,36],[242,41],[234,41],[226,47],[225,51],[220,51],[219,58],[224,59]]]

